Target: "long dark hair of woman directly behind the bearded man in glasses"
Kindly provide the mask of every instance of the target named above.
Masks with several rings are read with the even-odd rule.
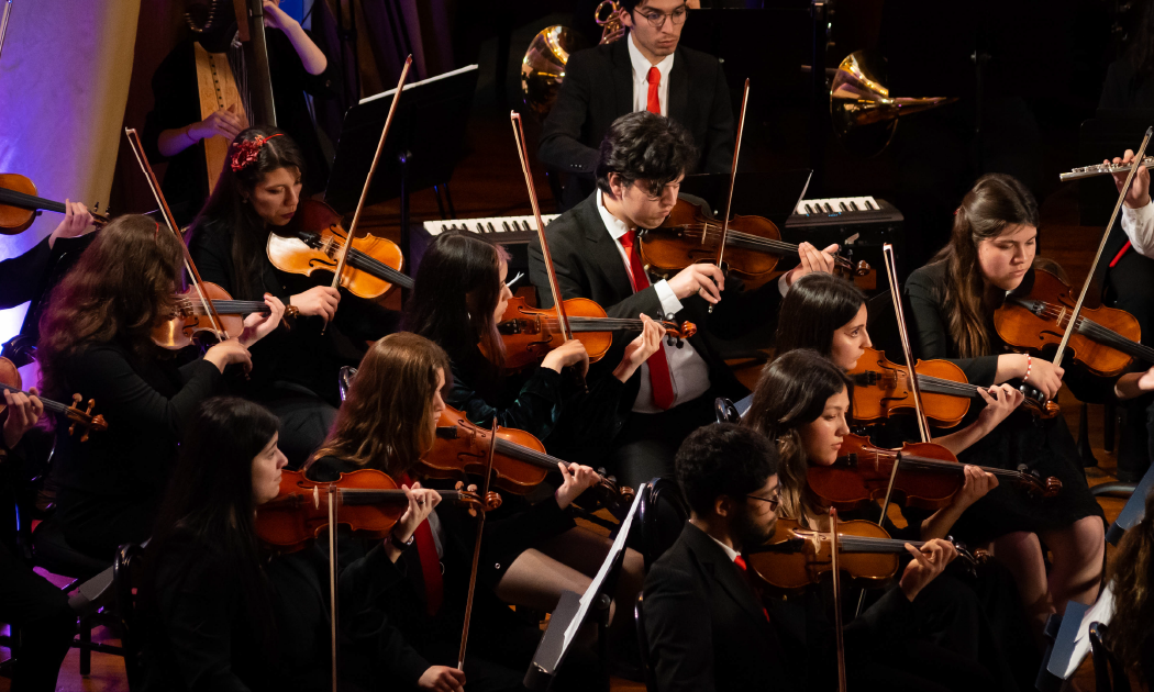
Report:
[[[841,368],[811,348],[785,353],[762,370],[742,423],[778,441],[780,517],[804,524],[820,513],[807,491],[809,459],[799,428],[816,421],[830,397],[841,390],[848,394],[852,386]]]

